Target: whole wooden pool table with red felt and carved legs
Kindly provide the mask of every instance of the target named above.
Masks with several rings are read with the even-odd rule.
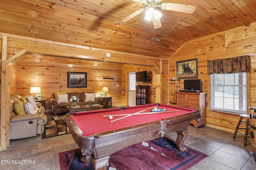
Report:
[[[167,111],[147,114],[153,107]],[[108,117],[117,114],[134,115],[113,116],[112,120]],[[65,119],[74,141],[81,148],[84,156],[81,161],[91,162],[94,170],[105,170],[109,155],[114,152],[136,143],[164,137],[166,133],[174,131],[178,133],[176,139],[178,150],[185,152],[183,143],[188,136],[188,125],[191,120],[200,121],[201,114],[202,111],[195,109],[148,104],[68,113]]]

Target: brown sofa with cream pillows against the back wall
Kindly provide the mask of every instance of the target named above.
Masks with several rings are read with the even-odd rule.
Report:
[[[62,98],[58,98],[58,96]],[[72,102],[69,102],[72,96],[79,98],[79,101],[76,102],[77,105],[101,104],[102,101],[102,99],[96,97],[93,92],[55,92],[50,100],[52,113],[54,115],[68,113],[67,106],[72,105]]]

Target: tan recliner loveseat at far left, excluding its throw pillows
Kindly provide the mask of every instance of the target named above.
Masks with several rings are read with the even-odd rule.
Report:
[[[20,95],[10,95],[10,140],[34,137],[37,134],[42,135],[47,122],[44,106],[36,102],[36,114],[16,115],[14,102],[18,99],[21,99]]]

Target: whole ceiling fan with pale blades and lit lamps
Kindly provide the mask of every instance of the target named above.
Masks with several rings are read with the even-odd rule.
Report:
[[[171,10],[178,12],[185,12],[192,14],[196,10],[196,6],[193,5],[185,5],[185,4],[174,4],[174,3],[162,3],[162,0],[132,0],[135,2],[142,3],[142,5],[146,8],[141,8],[134,13],[130,14],[126,18],[119,21],[119,23],[125,23],[126,21],[134,18],[138,14],[144,12],[146,10],[145,20],[153,22],[154,28],[162,27],[160,17],[162,14],[156,10],[156,8],[160,7],[162,10]]]

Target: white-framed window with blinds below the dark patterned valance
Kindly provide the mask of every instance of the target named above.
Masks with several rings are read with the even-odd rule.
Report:
[[[211,109],[247,112],[247,73],[211,74]]]

